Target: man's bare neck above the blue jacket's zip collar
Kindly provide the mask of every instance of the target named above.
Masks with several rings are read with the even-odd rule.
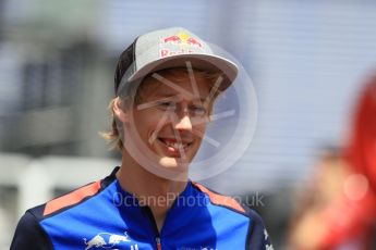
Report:
[[[142,205],[148,205],[154,214],[158,229],[165,222],[167,212],[175,198],[185,189],[185,182],[159,177],[141,166],[125,151],[122,165],[117,173],[120,186],[134,195]]]

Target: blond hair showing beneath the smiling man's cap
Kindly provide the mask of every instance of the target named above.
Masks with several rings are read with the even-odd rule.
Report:
[[[179,83],[182,79],[186,79],[186,77],[189,76],[186,68],[180,68],[180,67],[161,70],[161,71],[158,71],[157,73],[165,77],[166,76],[171,77],[170,79],[175,83]],[[220,73],[208,73],[208,72],[204,72],[199,70],[194,70],[194,74],[209,82],[210,91],[215,83],[217,82],[217,79],[219,77],[223,77],[222,74]],[[118,97],[121,99],[121,101],[124,101],[125,105],[128,107],[130,107],[132,101],[135,104],[138,104],[143,98],[142,96],[143,89],[145,89],[145,87],[148,86],[148,82],[150,82],[151,78],[153,76],[151,74],[149,74],[148,76],[144,78],[143,82],[138,84],[137,83],[125,84],[126,86],[122,88],[122,91],[118,93]],[[214,102],[220,93],[221,91],[219,89],[215,89],[215,92],[211,99],[213,101],[210,102],[210,105],[209,105],[210,114],[213,112]],[[117,121],[116,114],[113,112],[114,102],[118,97],[113,98],[108,105],[108,109],[110,110],[109,118],[111,123],[111,128],[108,132],[101,133],[100,135],[111,145],[111,149],[118,149],[122,151],[124,149],[123,140],[122,140],[123,133],[121,130],[122,127],[118,125],[120,124],[120,122]]]

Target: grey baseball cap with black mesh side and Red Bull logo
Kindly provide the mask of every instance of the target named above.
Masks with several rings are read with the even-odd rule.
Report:
[[[116,76],[116,91],[122,84],[142,79],[146,75],[171,67],[186,67],[222,73],[220,90],[236,78],[235,63],[219,54],[203,39],[182,27],[154,30],[137,37],[120,55]],[[118,80],[117,80],[118,77]],[[121,80],[119,79],[121,78]]]

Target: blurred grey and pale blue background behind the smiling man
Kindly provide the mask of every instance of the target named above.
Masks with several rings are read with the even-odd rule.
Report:
[[[323,149],[345,141],[375,73],[375,1],[0,0],[0,249],[26,208],[120,164],[99,136],[109,127],[117,59],[136,36],[170,26],[220,46],[253,79],[252,143],[204,183],[262,196],[251,207],[275,249],[289,249],[296,190]]]

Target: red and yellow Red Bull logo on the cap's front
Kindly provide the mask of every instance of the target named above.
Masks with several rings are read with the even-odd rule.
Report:
[[[162,38],[160,46],[160,58],[166,58],[174,54],[197,52],[197,49],[203,48],[203,42],[186,33],[179,33]]]

